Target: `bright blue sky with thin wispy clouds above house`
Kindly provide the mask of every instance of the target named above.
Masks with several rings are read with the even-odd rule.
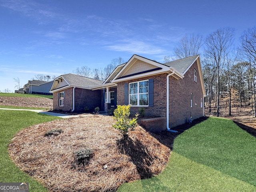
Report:
[[[0,0],[0,91],[37,74],[104,68],[133,54],[163,62],[185,34],[256,25],[253,0]]]

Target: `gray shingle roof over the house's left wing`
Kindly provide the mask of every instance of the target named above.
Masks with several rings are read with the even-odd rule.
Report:
[[[83,77],[75,74],[64,74],[62,75],[65,80],[68,82],[70,85],[74,86],[83,86],[83,87],[92,87],[92,86],[97,86],[101,85],[103,81],[88,78],[88,77]]]

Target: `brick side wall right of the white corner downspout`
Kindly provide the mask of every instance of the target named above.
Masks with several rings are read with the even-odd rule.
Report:
[[[194,81],[194,70],[197,71],[197,82]],[[170,77],[169,92],[169,128],[188,122],[190,112],[192,119],[203,116],[203,108],[201,108],[203,91],[197,62],[189,68],[183,79],[176,80]],[[191,93],[193,107],[191,107]]]

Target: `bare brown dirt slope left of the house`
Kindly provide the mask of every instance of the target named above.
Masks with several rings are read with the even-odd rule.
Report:
[[[0,96],[0,105],[17,107],[35,107],[52,109],[52,99],[39,97]]]

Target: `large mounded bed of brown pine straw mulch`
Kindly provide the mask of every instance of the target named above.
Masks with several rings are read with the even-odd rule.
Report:
[[[112,116],[95,115],[30,126],[12,139],[9,154],[21,170],[54,192],[116,191],[124,182],[162,172],[170,148],[140,126],[124,139],[113,123]],[[53,129],[62,132],[44,136]],[[93,156],[78,164],[73,152],[86,147]]]

